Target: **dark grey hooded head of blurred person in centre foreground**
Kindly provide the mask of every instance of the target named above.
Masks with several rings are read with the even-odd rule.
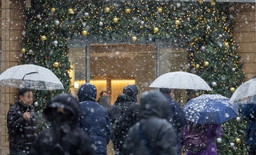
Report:
[[[157,91],[142,93],[140,97],[140,118],[149,117],[168,118],[169,106],[163,94]]]

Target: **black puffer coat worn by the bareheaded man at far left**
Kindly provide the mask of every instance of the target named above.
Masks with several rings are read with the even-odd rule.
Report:
[[[30,119],[25,120],[23,114],[29,109]],[[7,113],[7,127],[10,134],[10,150],[30,150],[37,138],[36,116],[34,106],[26,106],[20,101]]]

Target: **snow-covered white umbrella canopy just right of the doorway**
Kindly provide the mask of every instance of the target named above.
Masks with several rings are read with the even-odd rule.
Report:
[[[199,76],[183,71],[171,72],[161,75],[149,87],[212,90]]]

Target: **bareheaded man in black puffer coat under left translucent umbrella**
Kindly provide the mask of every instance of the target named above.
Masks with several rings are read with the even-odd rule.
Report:
[[[32,91],[22,88],[18,100],[7,113],[7,128],[10,134],[10,155],[29,154],[37,137],[36,116],[32,105]]]

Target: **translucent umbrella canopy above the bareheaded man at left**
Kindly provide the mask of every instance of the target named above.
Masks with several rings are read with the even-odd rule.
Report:
[[[0,85],[35,90],[64,89],[52,71],[37,65],[19,65],[7,69],[0,75]]]

